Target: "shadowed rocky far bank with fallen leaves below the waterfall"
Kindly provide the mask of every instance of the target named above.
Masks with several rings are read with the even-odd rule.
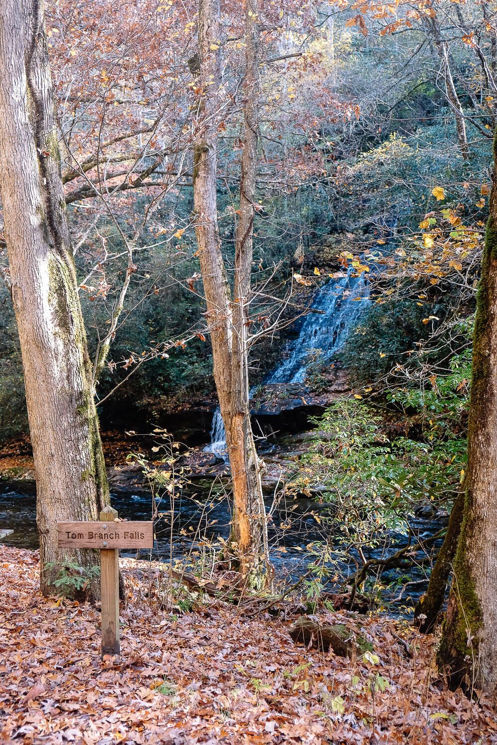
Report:
[[[253,393],[253,430],[259,454],[265,460],[262,481],[265,492],[281,486],[287,473],[294,470],[293,461],[306,449],[314,427],[312,418],[320,416],[336,399],[349,396],[344,370],[332,368],[326,375],[326,390],[311,392],[305,384],[268,384]],[[224,478],[229,466],[212,452],[204,452],[209,444],[214,399],[189,400],[183,410],[167,410],[157,416],[157,425],[104,429],[102,446],[111,489],[148,488],[142,468],[133,463],[132,454],[139,454],[152,467],[160,467],[168,457],[168,440],[177,447],[171,451],[174,459],[192,479]],[[166,436],[166,433],[167,436]],[[169,465],[165,466],[169,469]],[[26,434],[0,446],[0,480],[34,481],[34,460],[29,435]]]

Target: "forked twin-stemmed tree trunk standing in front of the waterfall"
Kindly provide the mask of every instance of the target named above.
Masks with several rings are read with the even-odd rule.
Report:
[[[252,2],[249,3],[253,7]],[[259,569],[267,556],[265,508],[259,474],[259,460],[253,440],[249,410],[247,374],[247,299],[252,268],[253,193],[256,168],[256,26],[247,8],[247,71],[244,92],[248,95],[245,112],[245,143],[241,168],[240,221],[235,243],[235,297],[232,301],[227,281],[217,214],[217,123],[216,96],[220,75],[219,0],[200,0],[199,52],[200,89],[198,126],[194,147],[195,232],[199,247],[200,270],[209,319],[214,358],[214,379],[221,415],[227,434],[229,463],[233,481],[233,543],[244,576]]]

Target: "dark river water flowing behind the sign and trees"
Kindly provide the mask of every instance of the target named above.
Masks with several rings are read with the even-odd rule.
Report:
[[[207,496],[207,498],[206,498]],[[113,507],[119,517],[133,520],[152,518],[151,497],[133,492],[113,492]],[[188,559],[196,561],[203,552],[212,554],[212,548],[221,548],[223,539],[229,536],[231,513],[226,498],[221,495],[188,495],[163,499],[158,504],[159,519],[156,521],[156,541],[153,551],[121,551],[129,557],[156,557],[165,561]],[[174,507],[174,510],[171,508]],[[317,562],[326,570],[321,580],[326,589],[338,589],[338,577],[346,577],[355,571],[358,559],[350,551],[348,559],[334,551],[338,536],[329,536],[320,519],[326,507],[307,498],[294,498],[274,508],[270,501],[266,508],[270,514],[269,539],[271,561],[276,577],[296,581],[308,569],[310,562]],[[174,517],[171,519],[171,515]],[[317,519],[316,519],[317,518]],[[14,532],[4,539],[4,545],[19,548],[37,548],[36,488],[33,482],[0,482],[0,526]],[[434,520],[413,519],[411,527],[426,538],[440,530],[443,525]],[[384,544],[370,552],[367,558],[390,554],[405,545],[405,536],[388,534]],[[328,545],[328,549],[326,549]],[[441,540],[434,545],[440,548]],[[409,613],[427,585],[427,557],[419,554],[418,564],[402,574],[392,570],[383,580],[395,580],[396,587],[387,593],[384,600],[390,610]]]

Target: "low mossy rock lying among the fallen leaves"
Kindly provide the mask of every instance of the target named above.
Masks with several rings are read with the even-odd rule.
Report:
[[[299,616],[292,624],[290,635],[294,641],[300,641],[306,646],[324,652],[332,649],[340,657],[348,657],[352,650],[364,653],[373,649],[373,645],[364,636],[346,624],[330,624],[306,615]]]

